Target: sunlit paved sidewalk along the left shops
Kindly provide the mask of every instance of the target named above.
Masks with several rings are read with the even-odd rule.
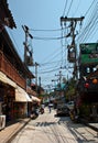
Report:
[[[0,131],[0,143],[10,143],[11,139],[30,121],[21,119],[19,122],[10,124]]]

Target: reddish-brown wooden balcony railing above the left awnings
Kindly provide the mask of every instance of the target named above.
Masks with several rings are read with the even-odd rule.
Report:
[[[6,58],[2,52],[0,52],[0,70],[4,73],[15,84],[25,89],[26,80],[18,73],[18,70]]]

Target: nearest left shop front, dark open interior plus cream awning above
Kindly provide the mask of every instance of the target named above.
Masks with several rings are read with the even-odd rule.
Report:
[[[6,121],[12,121],[15,82],[0,72],[0,116],[6,116]]]

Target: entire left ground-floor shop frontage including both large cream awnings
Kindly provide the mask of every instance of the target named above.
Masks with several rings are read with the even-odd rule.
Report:
[[[32,102],[23,88],[0,72],[0,116],[6,116],[6,122],[28,117]]]

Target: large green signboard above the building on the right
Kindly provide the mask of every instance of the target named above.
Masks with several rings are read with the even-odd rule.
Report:
[[[79,45],[80,64],[98,64],[98,43],[85,43]]]

